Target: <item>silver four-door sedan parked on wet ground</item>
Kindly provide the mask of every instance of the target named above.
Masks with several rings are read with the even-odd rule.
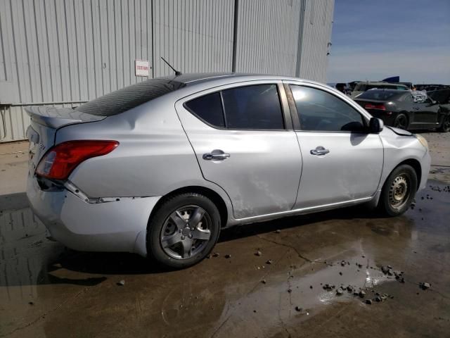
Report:
[[[51,236],[172,268],[231,225],[354,204],[401,215],[430,168],[420,135],[291,77],[163,77],[27,111],[27,196]]]

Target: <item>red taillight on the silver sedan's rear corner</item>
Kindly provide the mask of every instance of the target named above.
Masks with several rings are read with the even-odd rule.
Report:
[[[119,145],[117,141],[68,141],[53,146],[37,165],[39,176],[65,180],[79,163],[88,158],[103,156]]]

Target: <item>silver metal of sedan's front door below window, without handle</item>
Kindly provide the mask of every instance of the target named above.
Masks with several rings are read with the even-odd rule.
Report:
[[[383,171],[383,146],[377,134],[297,132],[303,172],[295,208],[342,203],[375,194]],[[317,146],[330,152],[310,153]]]

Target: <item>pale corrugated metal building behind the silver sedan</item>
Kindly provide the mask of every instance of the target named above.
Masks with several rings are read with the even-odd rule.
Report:
[[[325,82],[333,10],[334,0],[0,0],[0,142],[25,139],[24,106],[78,106],[172,74],[161,56],[183,73]]]

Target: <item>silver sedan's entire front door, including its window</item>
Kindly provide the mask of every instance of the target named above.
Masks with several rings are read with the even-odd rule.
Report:
[[[349,100],[314,84],[289,85],[294,127],[302,151],[295,208],[363,200],[375,194],[383,169],[383,144]]]

